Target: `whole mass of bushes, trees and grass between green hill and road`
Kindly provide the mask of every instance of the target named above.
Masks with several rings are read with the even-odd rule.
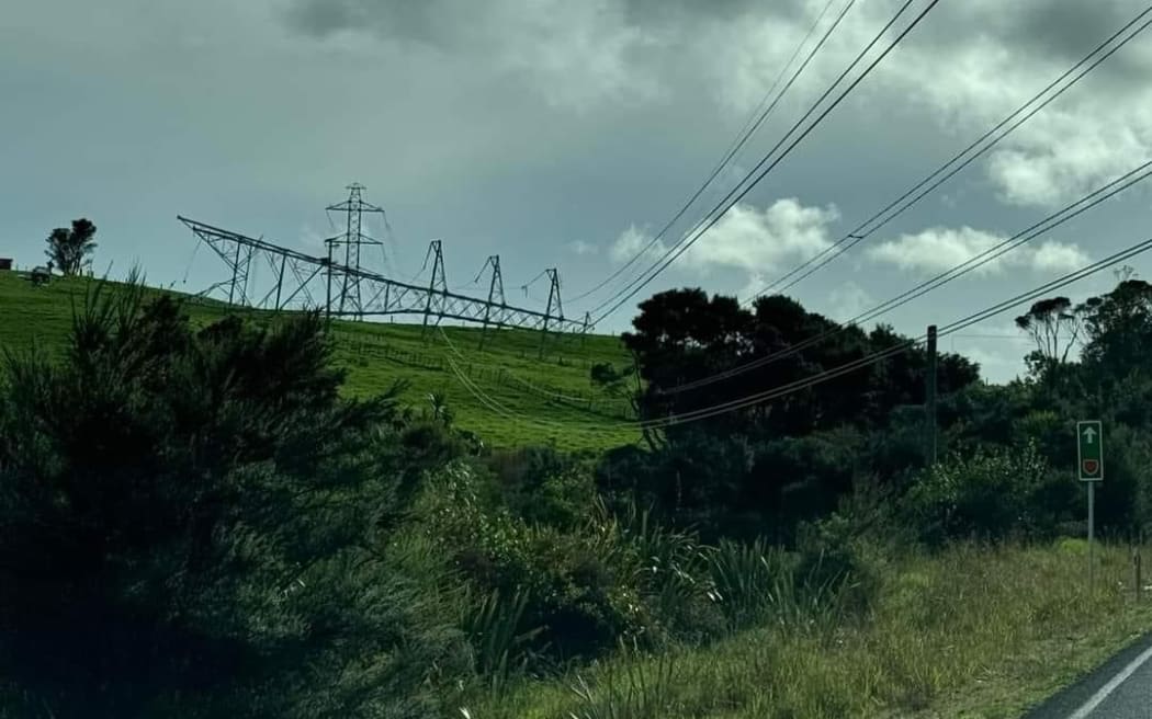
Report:
[[[0,717],[1010,717],[1152,619],[1130,276],[1022,315],[1024,380],[942,355],[935,464],[920,350],[573,452],[487,441],[317,314],[100,283],[68,306],[38,306],[54,344],[0,322]],[[667,420],[903,339],[681,290],[579,372]]]

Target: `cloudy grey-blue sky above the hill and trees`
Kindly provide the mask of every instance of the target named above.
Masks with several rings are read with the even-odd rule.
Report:
[[[386,239],[373,269],[410,277],[439,238],[449,285],[484,295],[470,283],[499,254],[509,300],[543,308],[547,286],[520,285],[555,267],[566,314],[582,316],[706,216],[900,5],[848,1],[0,0],[0,257],[40,263],[51,229],[86,216],[99,228],[98,273],[141,267],[150,283],[199,291],[226,270],[177,214],[319,254],[332,234],[324,207],[358,182],[387,212],[387,227],[370,227]],[[929,1],[912,0],[893,32]],[[813,23],[805,52],[846,7],[698,202],[582,297],[652,242]],[[757,291],[1142,10],[1136,0],[941,0],[598,329],[627,329],[659,290]],[[789,295],[849,320],[1152,159],[1150,66],[1152,29]],[[1149,198],[1137,185],[882,321],[919,335],[1144,239]],[[1129,263],[1152,273],[1143,255]],[[1083,299],[1114,282],[1101,273],[1062,293]],[[1029,350],[1014,314],[941,346],[991,381],[1011,378]]]

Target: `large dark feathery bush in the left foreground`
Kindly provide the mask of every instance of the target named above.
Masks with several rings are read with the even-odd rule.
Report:
[[[323,321],[98,291],[0,396],[0,714],[423,717],[456,633],[388,556],[395,401]]]

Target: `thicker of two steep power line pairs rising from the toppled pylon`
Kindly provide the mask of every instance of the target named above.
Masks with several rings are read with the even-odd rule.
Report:
[[[817,99],[817,101],[812,105],[812,107],[810,107],[809,110],[806,113],[804,113],[804,115],[796,122],[796,124],[793,125],[793,128],[788,131],[788,133],[786,133],[785,137],[781,138],[780,141],[776,143],[776,145],[771,151],[768,151],[768,153],[766,155],[764,155],[764,158],[761,158],[760,162],[758,162],[757,166],[755,168],[752,168],[752,171],[749,173],[748,176],[745,176],[744,181],[742,181],[741,184],[738,184],[727,196],[725,196],[725,198],[720,201],[720,204],[717,205],[717,207],[714,208],[713,213],[710,214],[710,216],[708,216],[710,219],[707,219],[706,222],[703,223],[703,227],[700,227],[700,224],[697,224],[698,229],[694,229],[692,231],[689,232],[691,235],[690,238],[688,236],[685,236],[684,238],[682,238],[679,243],[676,243],[676,245],[674,245],[673,247],[670,247],[665,253],[665,255],[660,260],[658,260],[649,270],[646,270],[639,277],[637,277],[636,280],[634,280],[632,283],[630,283],[623,290],[621,290],[620,292],[617,292],[616,295],[614,295],[613,297],[611,297],[607,300],[605,300],[604,303],[601,303],[596,308],[597,312],[601,307],[604,307],[605,305],[607,305],[608,303],[614,303],[614,304],[606,312],[604,312],[602,314],[598,315],[596,318],[596,320],[594,320],[593,323],[598,324],[606,316],[611,315],[616,309],[619,309],[621,306],[623,306],[624,303],[627,303],[632,297],[635,297],[650,282],[652,282],[652,280],[654,280],[660,273],[662,273],[665,269],[667,269],[673,262],[676,261],[676,259],[679,259],[684,252],[687,252],[689,247],[691,247],[705,232],[707,232],[717,222],[719,222],[720,217],[722,217],[729,209],[732,209],[732,207],[735,206],[736,202],[738,202],[740,200],[742,200],[752,190],[752,188],[755,188],[757,184],[759,184],[759,182],[761,179],[764,179],[764,177],[768,173],[771,173],[773,169],[775,169],[775,167],[778,165],[780,165],[780,162],[782,162],[785,158],[788,156],[788,154],[796,147],[796,145],[798,145],[801,141],[803,141],[804,138],[806,138],[812,132],[812,130],[814,130],[817,128],[817,125],[819,125],[820,122],[823,122],[824,118],[827,117],[828,114],[831,114],[832,110],[835,109],[836,106],[840,105],[840,102],[842,102],[843,99],[846,97],[848,97],[848,94],[851,93],[852,90],[855,90],[856,86],[859,85],[859,83],[863,82],[864,78],[867,77],[867,75],[871,74],[871,71],[873,69],[876,69],[877,66],[880,64],[880,62],[885,58],[888,56],[888,53],[890,53],[893,49],[895,49],[896,45],[899,45],[901,43],[901,40],[903,40],[908,36],[908,33],[911,32],[912,29],[915,29],[916,25],[918,25],[920,23],[922,20],[924,20],[924,17],[932,10],[932,8],[934,8],[940,2],[940,0],[932,0],[927,5],[927,7],[925,7],[919,13],[919,15],[917,15],[911,21],[911,23],[903,31],[901,31],[899,36],[896,36],[896,38],[879,54],[879,56],[877,56],[861,72],[861,75],[856,79],[854,79],[848,85],[848,87],[846,87],[835,98],[835,100],[833,100],[832,104],[828,105],[828,107],[825,108],[824,112],[820,113],[816,117],[816,120],[813,120],[812,123],[809,124],[808,128],[804,129],[804,131],[801,132],[799,136],[796,137],[796,139],[794,139],[791,141],[791,144],[788,145],[783,150],[783,152],[771,165],[768,165],[768,167],[764,168],[763,170],[759,170],[759,168],[763,167],[765,162],[767,162],[768,158],[771,158],[772,154],[775,153],[775,151],[781,145],[783,145],[783,143],[786,143],[788,140],[788,138],[791,137],[793,133],[796,132],[796,130],[798,130],[801,128],[801,125],[803,125],[803,123],[808,120],[808,117],[811,116],[812,113],[816,112],[816,109],[820,106],[820,104],[824,102],[824,100],[836,87],[836,85],[839,85],[851,72],[851,70],[864,59],[864,56],[872,49],[872,47],[877,43],[880,41],[880,39],[896,23],[896,21],[908,9],[908,7],[912,3],[912,1],[914,0],[905,0],[904,5],[901,6],[901,8],[896,12],[896,14],[892,17],[892,20],[889,20],[888,23],[885,24],[885,26],[880,30],[880,32],[877,33],[877,36],[867,44],[867,46],[865,46],[864,49],[861,51],[861,53],[856,56],[856,59],[852,60],[852,62],[844,69],[844,71],[840,74],[840,76],[835,79],[835,82],[833,82],[827,87],[827,90],[824,91],[824,93]],[[746,188],[744,188],[743,190],[740,190],[737,192],[737,190],[740,189],[740,186],[744,182],[748,181],[748,177],[751,177],[758,170],[759,170],[759,175],[756,175],[755,179],[752,179],[752,182]],[[735,197],[733,197],[733,196],[735,196]],[[732,200],[730,202],[729,202],[729,199]],[[727,206],[723,206],[726,202],[727,202]],[[722,209],[721,209],[721,207],[722,207]],[[645,275],[647,275],[647,276],[645,277]],[[619,300],[617,300],[617,298],[619,298]]]

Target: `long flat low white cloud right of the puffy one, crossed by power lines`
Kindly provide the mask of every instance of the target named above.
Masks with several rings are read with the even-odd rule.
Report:
[[[930,274],[952,269],[992,250],[1005,239],[999,235],[970,227],[930,228],[876,245],[867,254],[877,262],[895,265],[900,269],[917,274]],[[1087,261],[1087,255],[1077,245],[1049,239],[1037,247],[1018,246],[973,271],[990,274],[1000,271],[1005,267],[1034,271],[1070,270],[1084,266]]]

